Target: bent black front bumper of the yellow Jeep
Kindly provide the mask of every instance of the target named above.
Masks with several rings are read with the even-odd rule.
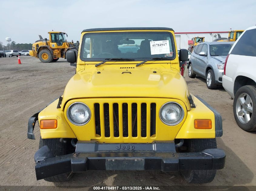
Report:
[[[120,151],[119,147],[124,149]],[[148,150],[142,150],[143,148]],[[52,156],[47,146],[35,153],[37,180],[62,173],[87,170],[161,170],[163,172],[217,170],[224,167],[226,155],[218,148],[206,149],[198,153],[176,153],[174,142],[119,145],[78,141],[75,153]]]

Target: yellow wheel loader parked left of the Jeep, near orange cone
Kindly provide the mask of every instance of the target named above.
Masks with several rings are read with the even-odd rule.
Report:
[[[49,40],[47,38],[43,39],[39,35],[39,40],[35,41],[32,45],[32,50],[29,51],[30,56],[39,58],[41,62],[49,63],[56,62],[59,58],[66,58],[66,52],[70,49],[78,49],[78,44],[72,42],[67,42],[64,32],[48,32]]]

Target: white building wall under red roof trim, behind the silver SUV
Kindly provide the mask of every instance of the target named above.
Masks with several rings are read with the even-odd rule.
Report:
[[[205,42],[212,42],[214,39],[218,38],[218,34],[220,34],[222,38],[228,38],[228,33],[175,33],[177,48],[188,49],[188,40],[191,40],[194,37],[205,37]],[[214,37],[215,35],[216,37]]]

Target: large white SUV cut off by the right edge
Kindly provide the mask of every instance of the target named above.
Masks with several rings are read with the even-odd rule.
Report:
[[[246,29],[230,49],[222,85],[234,99],[233,112],[241,129],[256,131],[256,26]]]

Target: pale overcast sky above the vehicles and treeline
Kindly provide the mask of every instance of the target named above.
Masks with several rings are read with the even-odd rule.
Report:
[[[102,27],[171,27],[175,32],[244,30],[256,24],[255,0],[1,1],[0,41],[34,43],[65,31],[68,41]]]

